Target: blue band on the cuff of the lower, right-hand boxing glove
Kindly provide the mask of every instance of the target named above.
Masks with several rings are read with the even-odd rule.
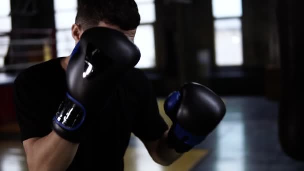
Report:
[[[185,144],[190,146],[195,146],[206,138],[206,136],[195,136],[191,134],[190,132],[184,130],[179,124],[176,124],[174,133],[178,139],[184,141]]]

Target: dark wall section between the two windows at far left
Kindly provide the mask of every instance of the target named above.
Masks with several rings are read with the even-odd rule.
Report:
[[[43,38],[56,57],[53,0],[11,0],[11,44],[5,65],[44,60]],[[24,39],[27,43],[22,43]]]

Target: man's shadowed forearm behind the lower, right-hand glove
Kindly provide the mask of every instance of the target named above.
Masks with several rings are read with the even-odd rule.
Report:
[[[156,149],[156,153],[159,158],[158,162],[161,165],[170,165],[182,156],[181,153],[177,153],[174,149],[168,147],[167,137],[168,131],[166,131],[162,138],[158,141]]]

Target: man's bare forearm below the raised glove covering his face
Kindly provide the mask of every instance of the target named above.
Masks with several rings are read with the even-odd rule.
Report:
[[[37,139],[27,151],[29,170],[66,170],[79,144],[62,139],[54,131]]]

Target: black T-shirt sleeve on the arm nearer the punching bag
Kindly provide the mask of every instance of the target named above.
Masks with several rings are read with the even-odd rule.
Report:
[[[134,135],[141,140],[157,140],[168,129],[168,125],[159,113],[157,97],[150,81],[142,71],[136,76],[139,105],[132,130]]]

